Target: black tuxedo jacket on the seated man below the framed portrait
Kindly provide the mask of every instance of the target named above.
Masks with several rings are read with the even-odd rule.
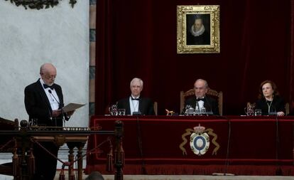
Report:
[[[207,112],[212,111],[213,115],[219,115],[219,106],[217,103],[217,100],[215,100],[213,97],[205,96],[204,97],[204,107]],[[197,104],[197,98],[196,96],[190,97],[187,100],[185,100],[184,110],[186,105],[190,105],[191,107],[195,108]]]

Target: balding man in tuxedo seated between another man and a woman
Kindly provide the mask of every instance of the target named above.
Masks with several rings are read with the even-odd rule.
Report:
[[[198,79],[194,83],[195,96],[185,100],[185,106],[190,105],[195,110],[201,110],[205,107],[206,112],[212,112],[213,115],[219,115],[217,100],[206,95],[208,84],[206,80]],[[183,111],[185,112],[185,110]]]

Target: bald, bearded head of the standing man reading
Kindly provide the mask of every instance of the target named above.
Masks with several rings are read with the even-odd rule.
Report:
[[[40,66],[40,77],[46,85],[53,85],[57,75],[55,66],[51,63],[45,63]]]

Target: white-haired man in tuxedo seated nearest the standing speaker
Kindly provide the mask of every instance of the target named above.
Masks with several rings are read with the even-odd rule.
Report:
[[[153,102],[141,97],[143,80],[134,78],[130,83],[131,95],[117,102],[118,109],[125,109],[126,115],[155,115]]]

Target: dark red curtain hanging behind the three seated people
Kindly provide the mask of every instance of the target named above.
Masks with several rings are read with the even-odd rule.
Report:
[[[177,6],[220,5],[220,53],[177,54]],[[244,114],[259,84],[273,80],[286,102],[293,98],[293,0],[97,1],[96,115],[130,95],[142,78],[142,95],[158,112],[180,110],[180,90],[197,78],[224,93],[224,115]]]

